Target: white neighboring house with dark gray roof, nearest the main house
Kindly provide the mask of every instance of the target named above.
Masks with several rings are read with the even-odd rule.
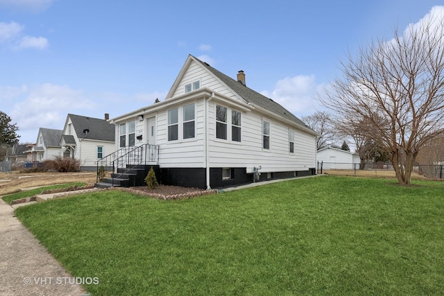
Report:
[[[97,160],[114,152],[114,125],[105,119],[68,114],[59,138],[62,154],[79,159],[82,171],[95,171]]]

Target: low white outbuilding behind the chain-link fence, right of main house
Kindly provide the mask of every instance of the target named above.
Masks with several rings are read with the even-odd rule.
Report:
[[[338,148],[326,147],[318,150],[318,162],[323,163],[323,170],[352,170],[359,168],[359,155]]]

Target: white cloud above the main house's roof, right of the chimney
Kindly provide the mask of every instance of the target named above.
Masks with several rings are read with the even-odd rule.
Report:
[[[313,114],[318,108],[316,93],[319,87],[321,86],[316,85],[314,75],[298,75],[279,80],[273,92],[264,91],[262,94],[280,103],[296,116],[305,116]]]

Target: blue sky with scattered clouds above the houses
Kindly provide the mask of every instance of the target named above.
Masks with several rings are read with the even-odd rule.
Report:
[[[0,0],[0,111],[35,142],[68,113],[113,118],[163,100],[191,53],[305,116],[348,52],[441,3]]]

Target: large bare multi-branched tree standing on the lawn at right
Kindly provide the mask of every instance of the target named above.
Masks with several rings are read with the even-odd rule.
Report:
[[[350,55],[343,78],[320,98],[343,130],[388,151],[398,182],[407,185],[421,148],[443,133],[444,21],[430,14],[394,33]]]

